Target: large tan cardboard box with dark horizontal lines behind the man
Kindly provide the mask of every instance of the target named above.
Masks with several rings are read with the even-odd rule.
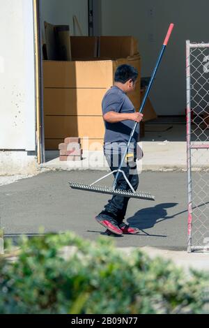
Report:
[[[103,139],[102,98],[114,84],[116,68],[125,63],[139,70],[136,91],[130,94],[134,107],[139,110],[139,55],[116,61],[44,61],[46,139],[61,140],[67,136]],[[76,71],[75,78],[72,71]],[[46,149],[58,149],[62,142],[48,141]]]

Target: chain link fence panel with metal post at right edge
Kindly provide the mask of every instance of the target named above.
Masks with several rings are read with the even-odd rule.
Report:
[[[209,44],[187,41],[188,252],[209,251]]]

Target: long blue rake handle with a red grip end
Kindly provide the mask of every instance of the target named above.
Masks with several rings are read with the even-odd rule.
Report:
[[[160,66],[160,62],[161,62],[161,60],[162,60],[162,57],[163,57],[164,51],[166,50],[167,44],[168,44],[168,42],[169,42],[169,38],[170,38],[171,33],[172,33],[172,31],[173,31],[173,27],[174,27],[174,24],[170,24],[169,30],[168,30],[168,32],[167,32],[167,36],[166,36],[166,38],[164,39],[164,43],[163,43],[163,45],[162,45],[162,50],[161,50],[161,52],[160,52],[160,56],[159,56],[158,59],[157,59],[157,64],[156,64],[156,66],[155,66],[155,69],[153,70],[153,75],[152,75],[152,77],[151,77],[151,79],[150,79],[150,83],[149,83],[148,88],[147,88],[147,90],[146,90],[146,94],[145,94],[144,99],[143,99],[143,101],[142,101],[142,103],[141,103],[141,107],[140,107],[140,109],[139,109],[139,113],[142,113],[143,110],[144,110],[144,106],[145,106],[145,104],[146,104],[146,100],[147,100],[147,98],[148,98],[148,94],[150,93],[150,89],[151,89],[151,87],[153,86],[153,82],[154,82],[154,80],[155,80],[155,76],[156,76],[156,74],[157,74],[157,69],[158,69],[159,66]],[[129,139],[129,142],[127,143],[127,148],[126,148],[125,153],[124,153],[124,155],[123,155],[123,158],[122,158],[122,160],[121,160],[121,164],[120,164],[120,166],[118,167],[118,172],[117,172],[117,174],[116,174],[116,178],[115,178],[115,180],[114,180],[114,185],[113,185],[113,189],[114,189],[114,190],[116,190],[117,181],[118,181],[118,176],[119,176],[119,174],[120,174],[121,167],[123,166],[123,163],[124,163],[124,161],[125,161],[125,156],[126,156],[126,154],[127,154],[127,150],[128,150],[129,147],[130,147],[130,143],[131,143],[131,141],[132,141],[132,137],[134,136],[134,133],[135,133],[135,131],[136,131],[136,129],[137,129],[137,125],[138,125],[138,123],[136,122],[136,123],[134,124],[134,127],[132,128],[132,133],[130,134],[130,139]]]

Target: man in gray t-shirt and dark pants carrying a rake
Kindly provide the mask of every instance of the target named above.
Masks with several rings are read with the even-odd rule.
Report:
[[[127,93],[134,91],[137,77],[136,68],[129,65],[119,66],[116,70],[114,86],[107,91],[102,100],[105,125],[104,154],[111,171],[117,170],[121,163],[135,122],[139,123],[143,119],[143,114],[135,111],[134,105],[127,97]],[[128,149],[127,161],[122,167],[135,191],[139,186],[136,164],[138,140],[139,132],[136,132]],[[130,191],[123,174],[119,174],[116,189]],[[137,234],[139,229],[124,223],[129,200],[127,197],[114,195],[104,207],[104,211],[95,217],[96,221],[107,228],[107,232]]]

